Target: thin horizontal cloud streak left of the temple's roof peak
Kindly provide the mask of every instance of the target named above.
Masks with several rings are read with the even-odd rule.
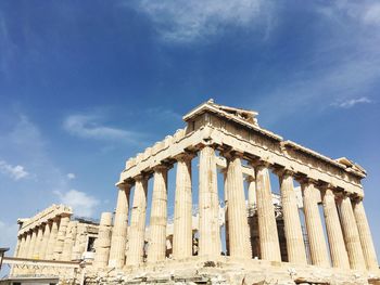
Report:
[[[137,132],[103,126],[99,117],[91,115],[71,115],[65,118],[63,128],[71,134],[84,139],[136,143],[140,137]]]

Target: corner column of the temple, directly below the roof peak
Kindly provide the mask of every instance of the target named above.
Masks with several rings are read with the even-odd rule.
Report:
[[[199,256],[220,256],[219,198],[215,151],[200,151],[199,167]]]

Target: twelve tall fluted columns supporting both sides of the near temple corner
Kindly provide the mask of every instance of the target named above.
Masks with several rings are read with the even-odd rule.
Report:
[[[216,156],[211,145],[205,145],[199,155],[199,255],[217,257],[220,255],[221,245],[218,223]],[[251,258],[252,248],[246,218],[242,156],[235,152],[228,152],[224,156],[227,159],[225,198],[228,254],[236,258]],[[187,153],[176,157],[174,259],[185,259],[192,256],[192,158],[193,155]],[[269,180],[269,165],[265,163],[252,163],[251,165],[255,169],[255,179],[251,180],[249,186],[249,207],[255,199],[261,258],[281,261]],[[150,241],[147,251],[148,262],[157,262],[165,259],[167,169],[167,166],[154,168]],[[288,259],[290,262],[306,264],[307,258],[293,187],[293,173],[289,170],[281,170],[277,171],[277,174],[280,179]],[[326,186],[319,190],[315,182],[307,179],[300,182],[302,184],[312,263],[320,267],[330,265],[318,206],[320,191],[322,191],[322,205],[332,265],[343,269],[377,269],[375,247],[362,200],[351,200],[345,195],[340,199],[338,211],[337,197],[332,187]],[[119,184],[115,222],[111,237],[110,267],[136,265],[144,259],[148,177],[141,174],[135,178],[135,194],[130,226],[128,228],[130,189],[131,185],[128,183]],[[127,244],[128,248],[126,248]]]

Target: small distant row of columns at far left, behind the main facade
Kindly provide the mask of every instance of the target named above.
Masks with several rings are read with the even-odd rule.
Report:
[[[71,260],[76,222],[56,217],[18,236],[15,256],[29,259]],[[68,228],[68,229],[67,229]]]

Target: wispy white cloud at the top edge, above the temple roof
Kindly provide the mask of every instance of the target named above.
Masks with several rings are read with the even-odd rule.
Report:
[[[136,8],[152,20],[164,40],[179,43],[205,39],[228,26],[253,28],[270,22],[268,1],[263,0],[141,0]]]

